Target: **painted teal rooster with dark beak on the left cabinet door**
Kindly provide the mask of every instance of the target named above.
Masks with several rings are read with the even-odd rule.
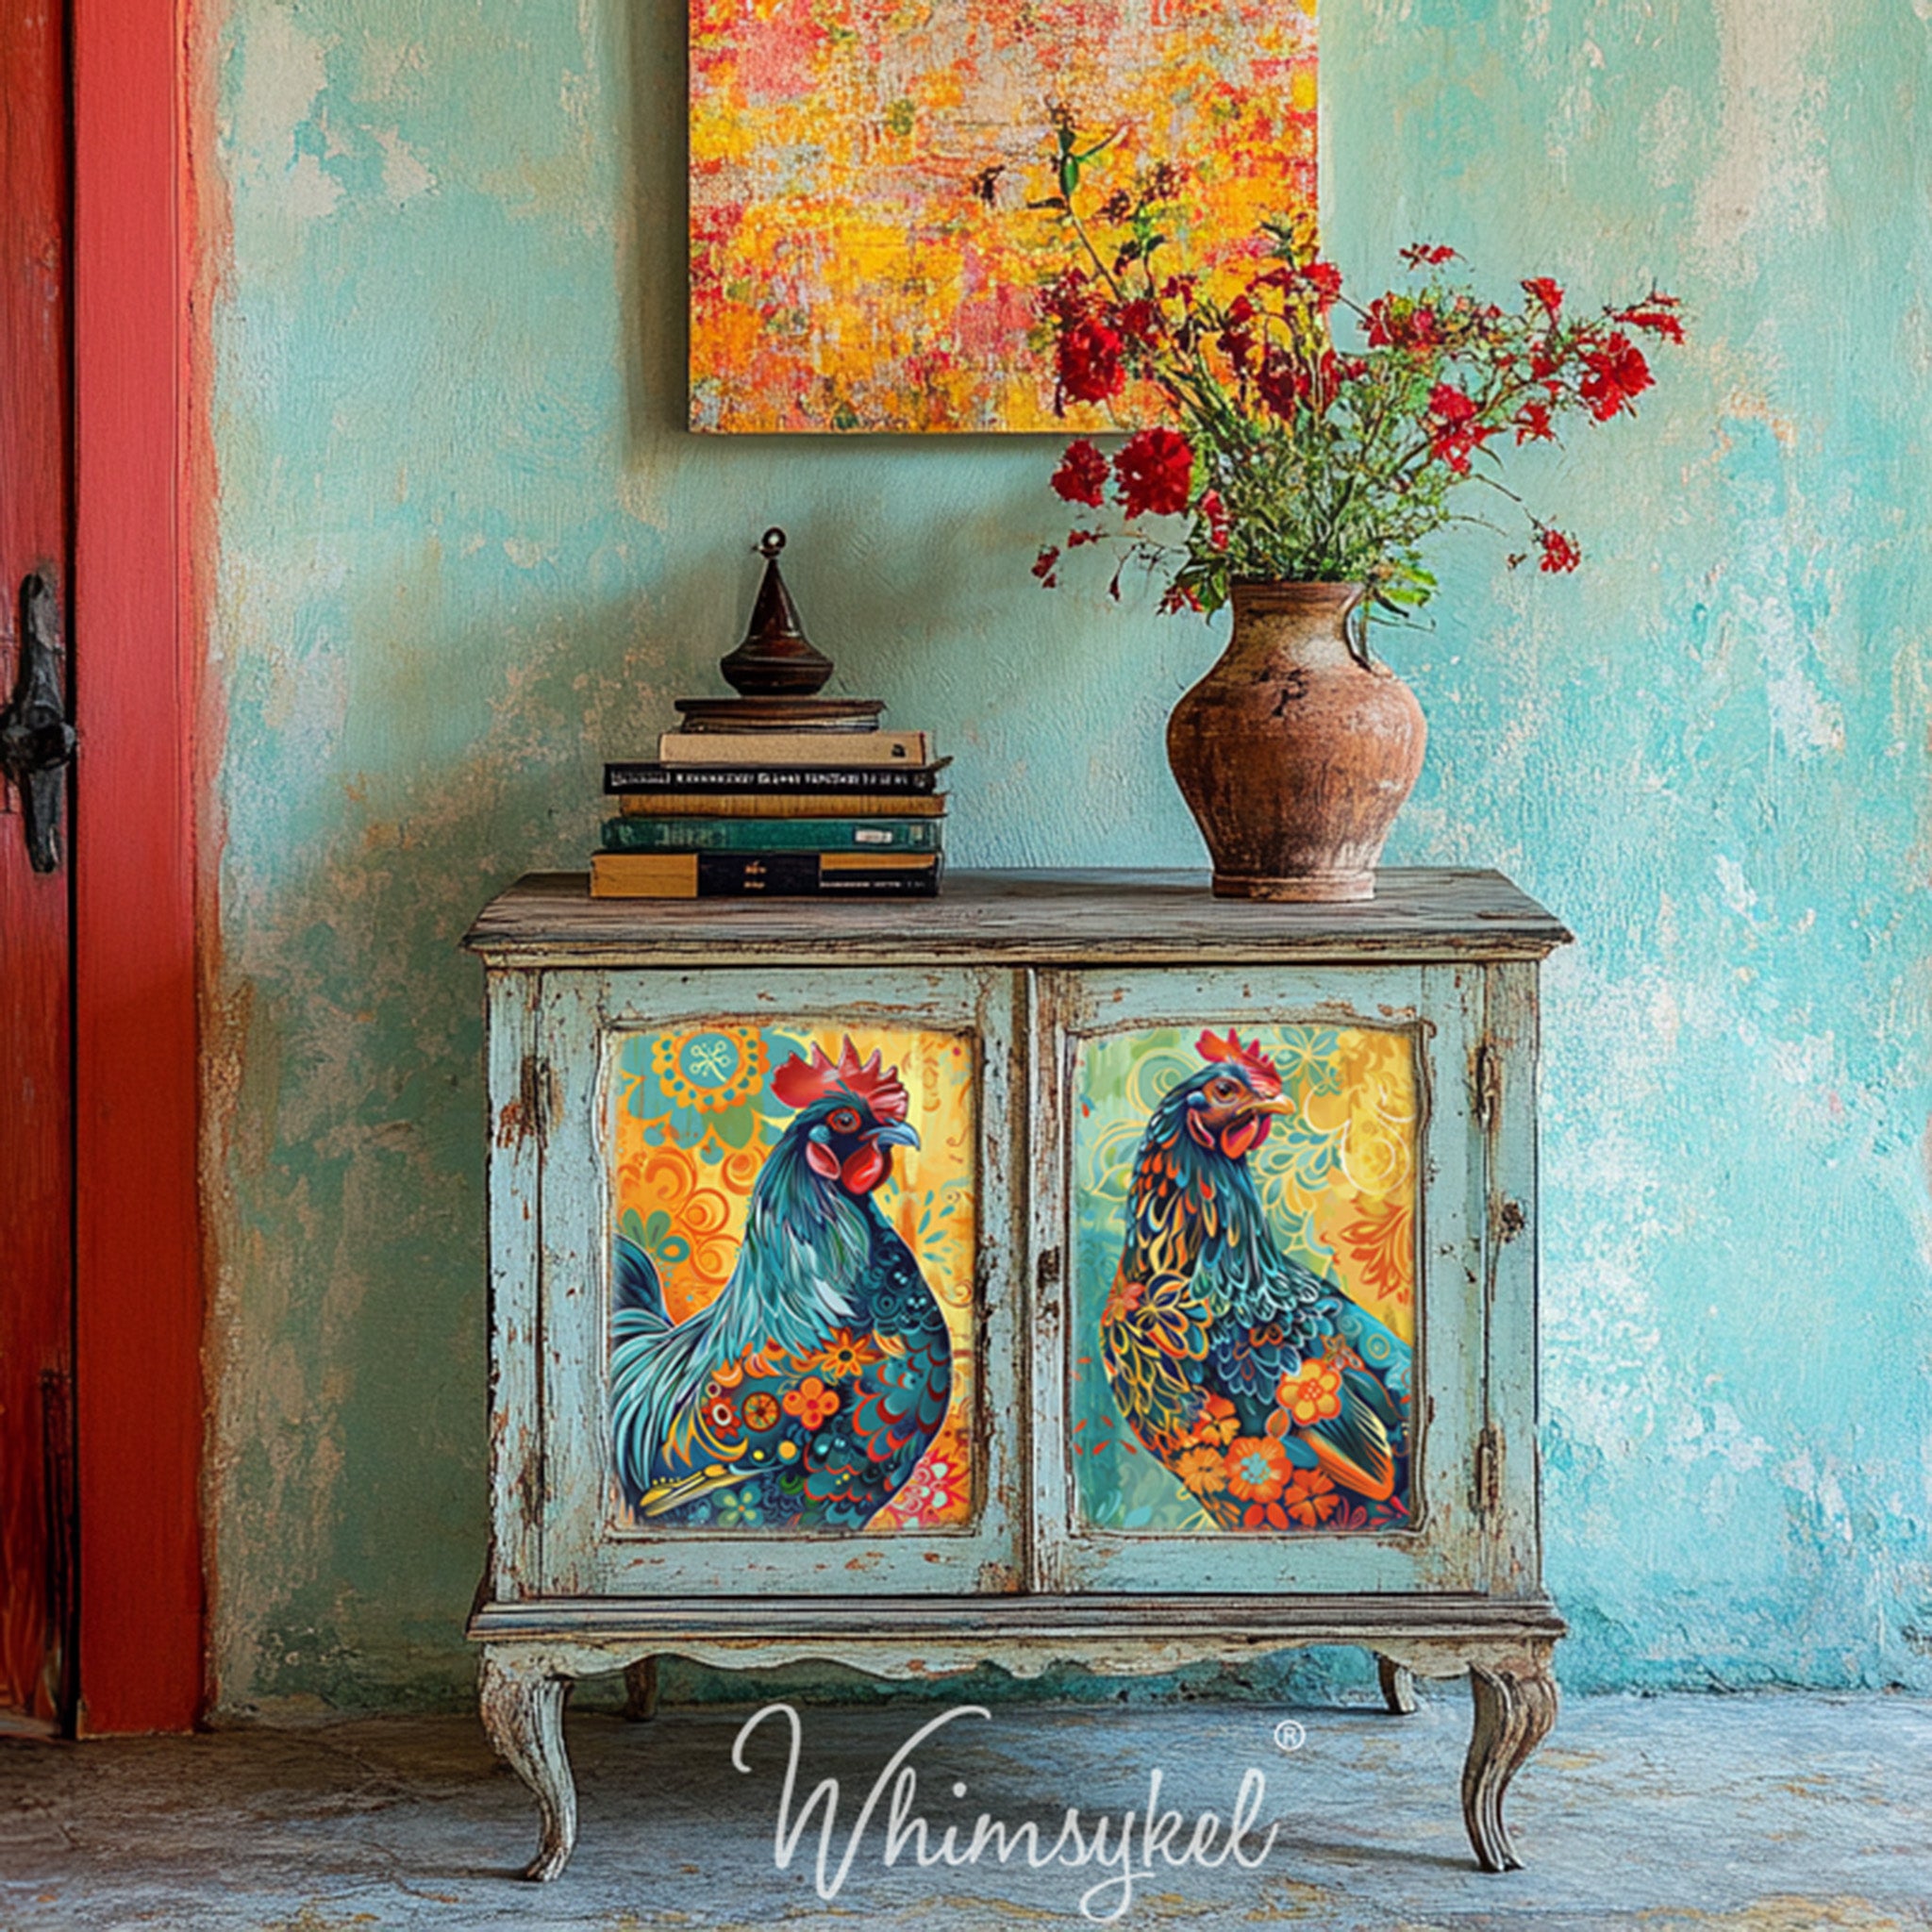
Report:
[[[864,1528],[945,1420],[952,1339],[875,1200],[891,1150],[920,1144],[898,1070],[846,1039],[792,1055],[771,1092],[798,1115],[713,1302],[670,1321],[649,1256],[616,1242],[616,1474],[653,1524]]]

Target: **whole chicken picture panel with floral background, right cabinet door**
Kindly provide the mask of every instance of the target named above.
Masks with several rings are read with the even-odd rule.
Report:
[[[1289,1026],[1090,1041],[1076,1482],[1109,1528],[1408,1517],[1410,1039]]]

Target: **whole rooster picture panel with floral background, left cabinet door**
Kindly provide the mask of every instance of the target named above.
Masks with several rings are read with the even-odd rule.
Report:
[[[624,1041],[609,1408],[636,1528],[964,1520],[970,1074],[949,1034]]]

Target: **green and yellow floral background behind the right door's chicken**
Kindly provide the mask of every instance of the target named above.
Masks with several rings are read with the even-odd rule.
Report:
[[[1198,1032],[1150,1028],[1084,1041],[1074,1074],[1072,1466],[1080,1515],[1095,1528],[1213,1530],[1121,1418],[1095,1341],[1126,1235],[1134,1157],[1161,1095],[1200,1070]],[[1273,1026],[1252,1037],[1294,1101],[1294,1113],[1279,1117],[1248,1155],[1277,1244],[1331,1275],[1412,1345],[1418,1122],[1410,1037],[1356,1026]]]

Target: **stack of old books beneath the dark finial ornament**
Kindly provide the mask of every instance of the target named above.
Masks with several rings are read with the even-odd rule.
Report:
[[[605,765],[595,898],[931,898],[947,798],[922,730],[668,730]]]

